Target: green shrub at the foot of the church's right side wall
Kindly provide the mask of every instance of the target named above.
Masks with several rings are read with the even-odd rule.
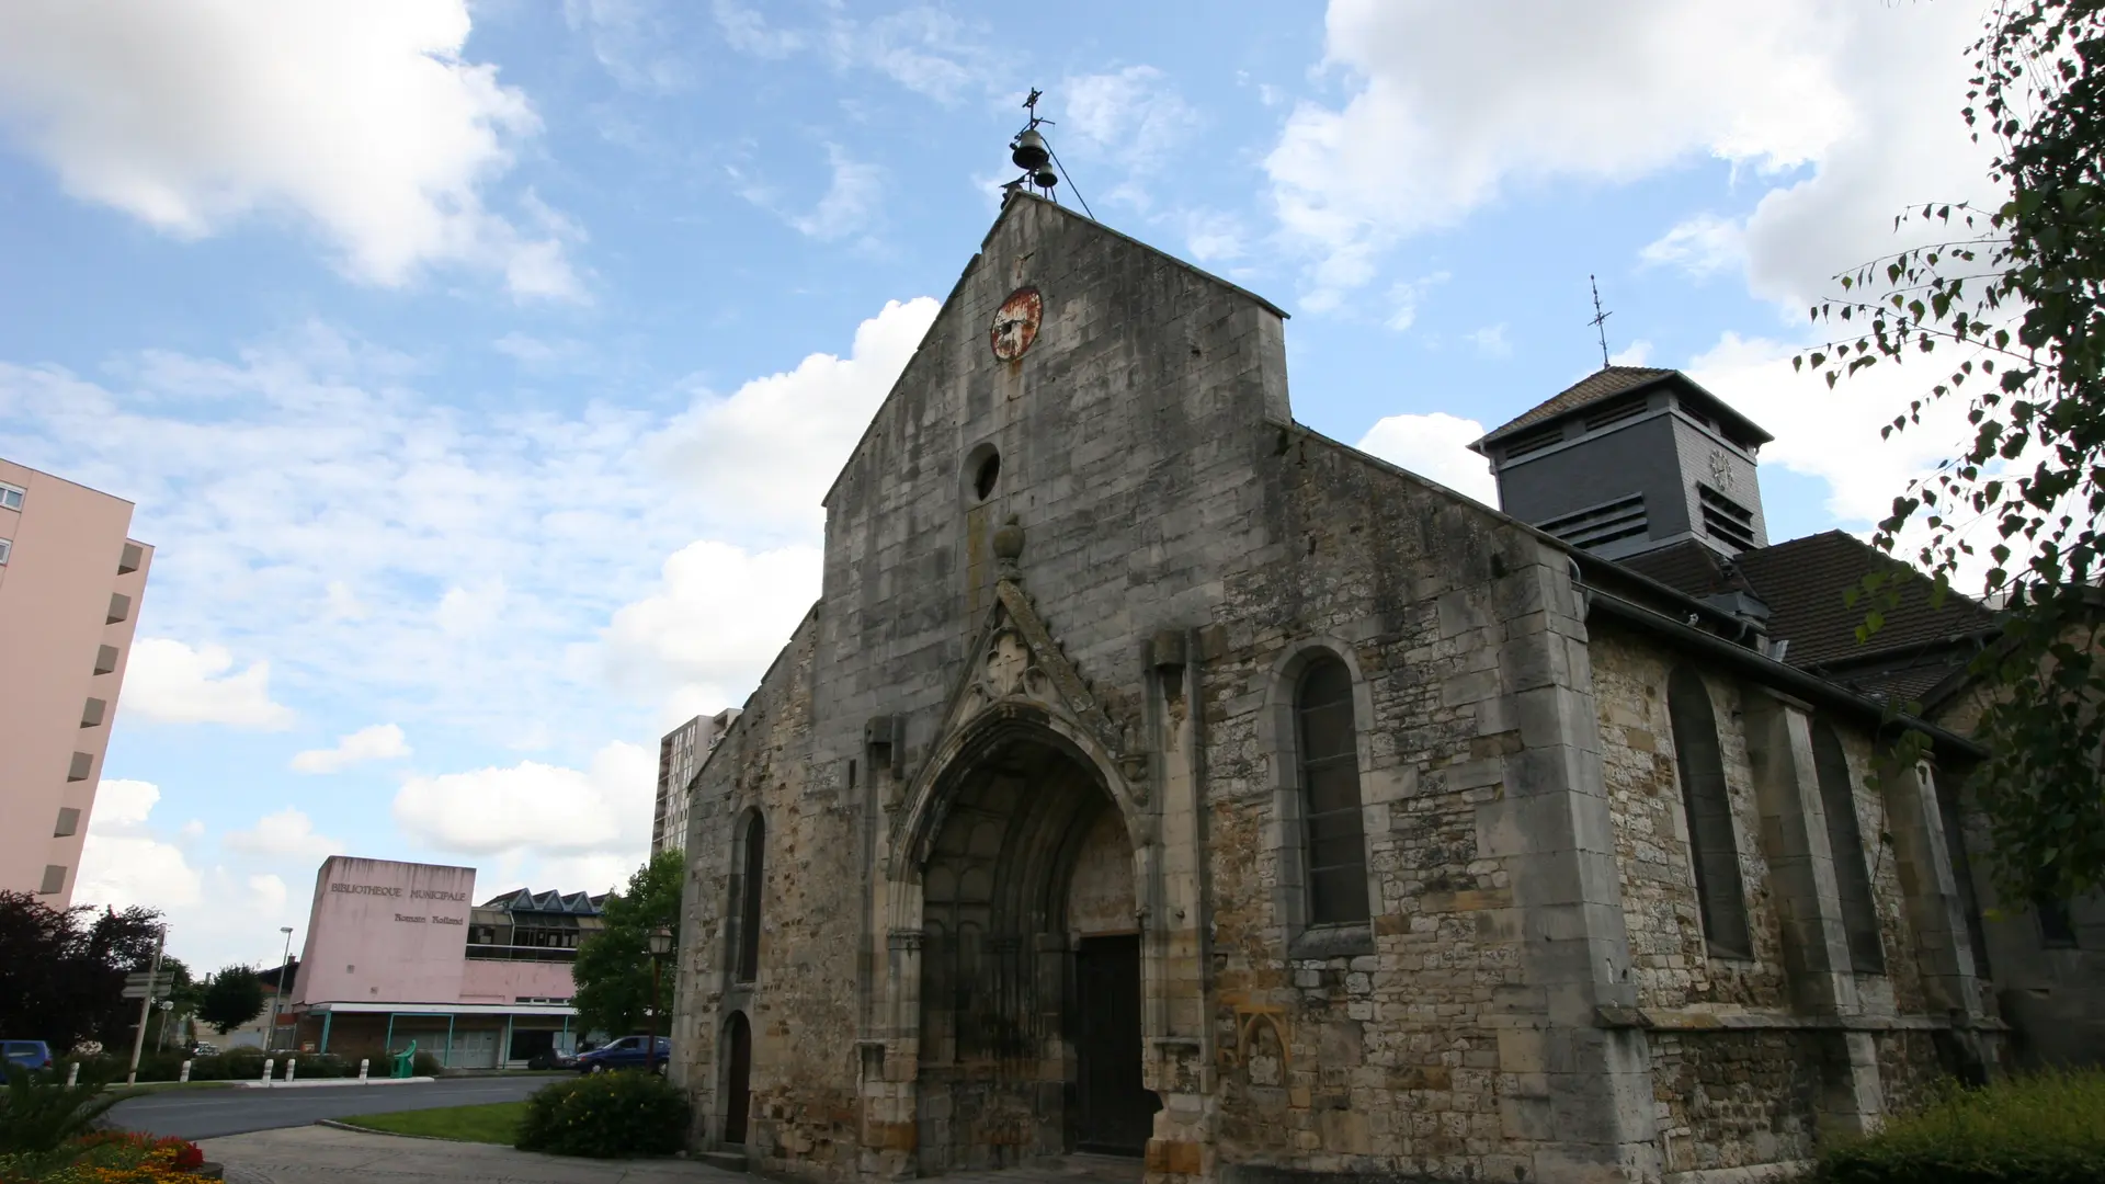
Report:
[[[1878,1136],[1829,1148],[1827,1184],[2097,1184],[2105,1072],[2044,1072],[1953,1089]]]

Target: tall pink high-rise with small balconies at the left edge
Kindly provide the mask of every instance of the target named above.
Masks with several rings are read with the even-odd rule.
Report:
[[[0,889],[74,902],[154,548],[133,504],[0,459]]]

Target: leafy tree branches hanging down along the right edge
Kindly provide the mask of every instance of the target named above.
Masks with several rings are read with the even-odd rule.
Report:
[[[1876,544],[1905,554],[1911,529],[1937,596],[1989,560],[1983,592],[2008,607],[2002,643],[1972,666],[1991,691],[1977,731],[1991,756],[1970,784],[2002,887],[2065,900],[2105,883],[2105,0],[1996,4],[1970,55],[1960,114],[1996,150],[1989,181],[2008,200],[1894,219],[1943,240],[1838,276],[1842,295],[1812,318],[1846,337],[1793,364],[1827,386],[1903,358],[1934,367],[1888,436],[1966,400],[1972,438],[1894,497]],[[1873,577],[1865,592],[1873,632],[1894,588]]]

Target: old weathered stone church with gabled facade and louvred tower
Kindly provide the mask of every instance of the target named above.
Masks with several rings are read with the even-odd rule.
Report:
[[[1476,445],[1490,510],[1295,423],[1263,297],[1013,194],[690,786],[695,1146],[1741,1182],[1993,1072],[1979,750],[1890,710],[1991,621],[1850,649],[1878,560],[1770,546],[1766,438],[1604,369]]]

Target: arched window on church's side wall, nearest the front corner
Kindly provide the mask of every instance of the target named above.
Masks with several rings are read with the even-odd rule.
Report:
[[[1688,666],[1667,676],[1667,716],[1673,723],[1673,763],[1688,813],[1688,862],[1697,874],[1703,938],[1711,954],[1753,956],[1747,933],[1747,891],[1739,879],[1739,838],[1732,832],[1732,796],[1724,786],[1718,748],[1718,712],[1703,676]]]

